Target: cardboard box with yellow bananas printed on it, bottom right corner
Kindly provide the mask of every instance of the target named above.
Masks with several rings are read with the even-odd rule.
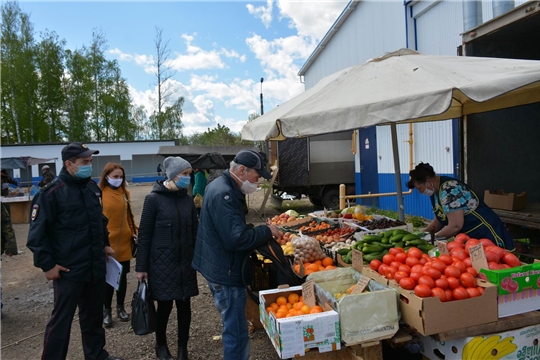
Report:
[[[433,360],[440,359],[538,359],[540,325],[499,334],[467,337],[439,342],[431,336],[420,336],[422,354]],[[493,355],[493,354],[496,355]]]

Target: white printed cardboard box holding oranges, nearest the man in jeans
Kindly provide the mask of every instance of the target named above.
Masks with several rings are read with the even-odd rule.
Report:
[[[302,295],[302,286],[259,292],[261,323],[279,357],[304,356],[310,348],[318,348],[321,353],[341,349],[339,315],[334,310],[282,319],[267,313],[266,308],[279,296],[293,292]]]

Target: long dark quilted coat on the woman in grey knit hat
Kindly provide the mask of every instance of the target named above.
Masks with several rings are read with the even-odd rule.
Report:
[[[191,267],[198,219],[185,189],[171,191],[163,180],[146,195],[139,225],[137,272],[148,273],[154,300],[186,299],[199,294]]]

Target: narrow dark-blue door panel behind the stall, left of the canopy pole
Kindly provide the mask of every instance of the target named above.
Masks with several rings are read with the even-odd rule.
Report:
[[[375,126],[360,130],[360,179],[362,194],[379,192],[379,171],[377,167],[377,131]],[[377,206],[378,198],[365,198],[360,202],[365,206]]]

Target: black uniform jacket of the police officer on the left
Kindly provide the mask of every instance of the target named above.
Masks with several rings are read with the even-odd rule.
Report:
[[[43,271],[62,265],[70,271],[61,276],[72,281],[102,279],[103,248],[109,246],[107,222],[97,184],[62,169],[32,201],[26,246],[34,253],[34,265]]]

